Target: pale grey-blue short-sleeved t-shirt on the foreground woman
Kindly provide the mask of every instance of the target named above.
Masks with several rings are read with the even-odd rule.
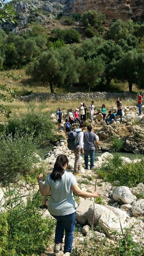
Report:
[[[54,181],[50,178],[50,174],[47,175],[45,185],[51,188],[48,204],[50,214],[64,216],[76,212],[73,191],[71,189],[76,184],[73,174],[67,171],[64,171],[61,180]]]

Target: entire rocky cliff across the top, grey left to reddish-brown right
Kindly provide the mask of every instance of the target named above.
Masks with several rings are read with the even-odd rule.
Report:
[[[99,10],[106,14],[106,22],[112,20],[140,20],[144,17],[144,0],[13,0],[17,13],[18,24],[3,23],[3,29],[18,33],[28,23],[37,22],[48,24],[51,17],[60,12],[70,15],[73,12],[82,14],[83,11]]]

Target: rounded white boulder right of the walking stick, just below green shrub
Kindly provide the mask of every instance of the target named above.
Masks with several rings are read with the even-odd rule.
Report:
[[[122,200],[123,203],[133,203],[137,200],[137,197],[131,193],[130,188],[126,186],[120,186],[113,192],[113,199],[118,201]]]

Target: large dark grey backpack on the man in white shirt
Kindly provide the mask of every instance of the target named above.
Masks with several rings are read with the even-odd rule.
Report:
[[[70,131],[68,133],[68,140],[67,140],[68,149],[75,150],[76,147],[79,145],[79,141],[78,141],[79,132],[82,132],[82,131],[75,131],[74,129],[73,131]]]

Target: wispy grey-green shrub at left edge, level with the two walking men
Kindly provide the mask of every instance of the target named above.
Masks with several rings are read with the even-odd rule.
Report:
[[[19,180],[20,175],[26,176],[32,170],[33,163],[37,163],[35,156],[37,148],[32,136],[26,134],[19,137],[15,134],[1,137],[0,141],[0,176],[1,179]]]

